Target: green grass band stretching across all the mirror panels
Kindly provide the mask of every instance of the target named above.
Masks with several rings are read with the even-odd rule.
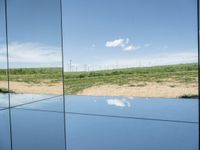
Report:
[[[143,87],[148,83],[191,85],[197,84],[197,75],[198,65],[194,63],[92,72],[65,72],[65,92],[66,94],[77,94],[86,88],[100,85],[129,87]],[[6,70],[0,69],[0,81],[6,80]],[[10,81],[45,83],[48,86],[62,81],[61,68],[10,69]]]

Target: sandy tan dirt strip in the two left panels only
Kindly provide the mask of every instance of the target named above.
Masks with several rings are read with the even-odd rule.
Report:
[[[0,81],[0,88],[7,88],[7,82]],[[62,94],[62,83],[31,84],[25,82],[10,82],[10,90],[15,93],[30,94]]]

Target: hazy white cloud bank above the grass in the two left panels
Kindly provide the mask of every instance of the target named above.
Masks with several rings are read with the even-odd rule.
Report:
[[[0,46],[0,62],[5,62],[6,48]],[[1,59],[2,58],[2,59]],[[11,63],[58,63],[61,62],[61,50],[58,47],[39,43],[12,42],[9,44]]]

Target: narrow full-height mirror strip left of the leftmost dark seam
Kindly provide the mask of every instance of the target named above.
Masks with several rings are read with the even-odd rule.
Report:
[[[0,0],[0,149],[11,150],[5,0]]]

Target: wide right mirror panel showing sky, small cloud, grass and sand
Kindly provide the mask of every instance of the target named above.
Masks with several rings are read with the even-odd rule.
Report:
[[[195,1],[67,0],[63,24],[66,94],[197,98]]]

